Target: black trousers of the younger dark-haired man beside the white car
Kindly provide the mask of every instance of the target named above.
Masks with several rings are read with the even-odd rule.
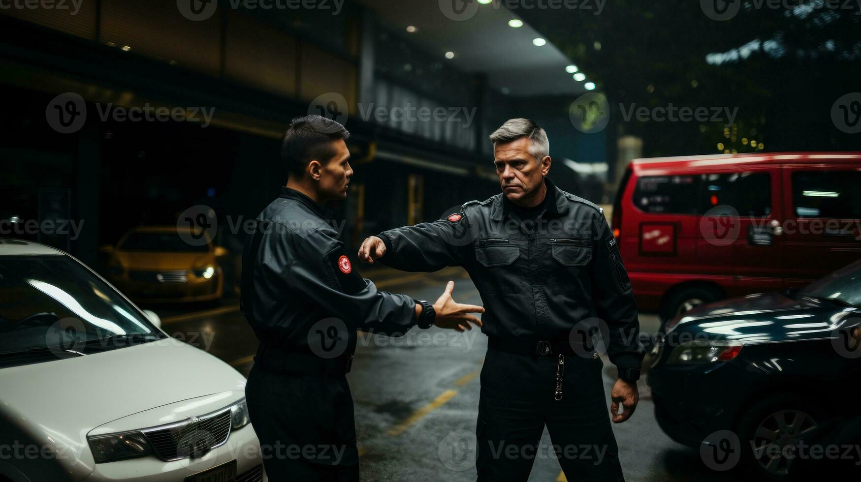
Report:
[[[248,412],[273,482],[358,482],[356,421],[345,376],[269,370],[255,363]]]

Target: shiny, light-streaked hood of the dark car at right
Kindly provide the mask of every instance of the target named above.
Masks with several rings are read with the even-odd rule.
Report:
[[[733,344],[831,338],[858,321],[861,310],[784,292],[749,294],[697,306],[666,324],[672,331],[705,332]]]

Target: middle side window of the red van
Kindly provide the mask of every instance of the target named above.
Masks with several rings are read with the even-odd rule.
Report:
[[[702,213],[730,206],[743,217],[771,214],[771,176],[766,172],[704,174],[702,180]]]

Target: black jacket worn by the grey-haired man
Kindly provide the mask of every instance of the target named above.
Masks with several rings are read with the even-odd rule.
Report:
[[[623,378],[644,350],[628,273],[604,211],[545,178],[546,210],[521,222],[502,194],[469,201],[432,223],[382,232],[381,263],[405,271],[466,269],[486,312],[481,331],[508,341],[569,343],[580,322],[603,320],[606,350]],[[609,333],[604,333],[609,331]]]

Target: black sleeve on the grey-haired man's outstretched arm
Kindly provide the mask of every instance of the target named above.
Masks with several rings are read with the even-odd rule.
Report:
[[[461,266],[461,246],[468,244],[468,220],[463,211],[446,219],[395,228],[377,235],[386,244],[379,261],[401,271],[437,271]]]

